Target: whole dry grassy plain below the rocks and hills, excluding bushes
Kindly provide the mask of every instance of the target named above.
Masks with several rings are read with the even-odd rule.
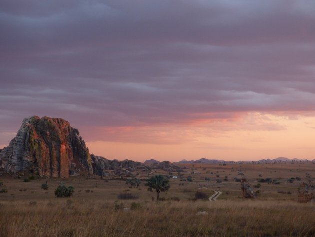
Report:
[[[124,180],[111,178],[23,182],[0,177],[4,184],[0,189],[8,190],[0,193],[0,236],[315,236],[315,205],[297,202],[299,183],[312,179],[314,164],[186,166],[188,172],[170,180],[171,188],[159,202],[143,182],[129,189]],[[155,174],[170,175],[162,170]],[[188,176],[192,182],[180,181]],[[260,183],[260,188],[253,188],[259,190],[258,198],[247,200],[234,181],[243,176],[252,186],[261,178],[277,179],[280,184]],[[287,183],[291,177],[301,181]],[[217,183],[218,178],[227,181]],[[54,196],[60,181],[75,187],[73,197]],[[48,190],[40,188],[45,182]],[[196,191],[210,196],[214,190],[223,192],[215,202],[193,200]],[[120,200],[120,193],[138,198]]]

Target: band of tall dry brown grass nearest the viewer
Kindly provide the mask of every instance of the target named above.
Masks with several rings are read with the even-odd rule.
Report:
[[[315,236],[315,205],[311,203],[131,203],[72,199],[0,202],[0,236]],[[206,213],[196,215],[199,211]]]

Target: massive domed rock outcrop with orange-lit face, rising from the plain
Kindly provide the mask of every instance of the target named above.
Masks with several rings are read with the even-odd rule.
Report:
[[[0,150],[0,171],[33,170],[40,176],[93,173],[92,160],[79,131],[60,118],[25,118],[16,137]]]

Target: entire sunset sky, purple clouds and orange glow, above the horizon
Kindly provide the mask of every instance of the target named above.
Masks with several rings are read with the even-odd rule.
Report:
[[[108,159],[314,159],[314,23],[313,0],[2,0],[0,148],[38,115]]]

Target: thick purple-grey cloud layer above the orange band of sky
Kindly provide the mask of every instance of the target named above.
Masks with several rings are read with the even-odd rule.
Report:
[[[313,112],[314,21],[306,0],[1,1],[0,132]]]

